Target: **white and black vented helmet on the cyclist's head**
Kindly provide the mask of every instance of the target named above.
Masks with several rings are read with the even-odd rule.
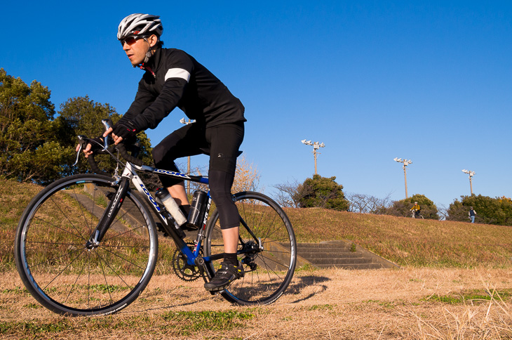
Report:
[[[130,35],[162,35],[163,26],[159,15],[135,13],[130,14],[119,24],[117,39],[121,40]]]

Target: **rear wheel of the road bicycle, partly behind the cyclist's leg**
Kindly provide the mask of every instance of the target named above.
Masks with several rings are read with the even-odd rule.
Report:
[[[241,305],[265,305],[276,301],[292,280],[297,262],[297,243],[292,224],[285,211],[271,198],[260,192],[238,192],[234,196],[242,225],[241,239],[245,247],[254,247],[254,238],[245,230],[245,222],[262,240],[263,250],[241,254],[245,275],[221,292],[224,299]],[[205,255],[224,252],[224,242],[215,210],[206,227]],[[243,249],[238,242],[238,250]],[[209,263],[212,273],[222,260]],[[255,268],[251,268],[255,266]]]

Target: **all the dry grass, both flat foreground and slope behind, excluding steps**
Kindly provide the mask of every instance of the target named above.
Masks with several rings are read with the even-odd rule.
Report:
[[[0,339],[512,339],[511,227],[324,209],[287,209],[299,242],[352,240],[402,269],[299,268],[276,303],[241,307],[161,261],[120,313],[63,317],[13,265],[16,225],[39,190],[0,181]]]

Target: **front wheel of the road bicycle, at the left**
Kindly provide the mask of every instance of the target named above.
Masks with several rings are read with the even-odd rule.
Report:
[[[128,190],[99,247],[86,248],[118,186],[97,174],[62,178],[25,209],[15,237],[15,263],[25,287],[63,315],[115,313],[137,299],[156,266],[155,223]],[[110,198],[109,198],[110,197]]]

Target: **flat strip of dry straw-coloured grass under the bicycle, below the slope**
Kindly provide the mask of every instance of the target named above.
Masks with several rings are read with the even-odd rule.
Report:
[[[276,303],[248,308],[162,275],[116,315],[65,318],[4,273],[0,338],[510,339],[511,281],[499,269],[300,271]]]

